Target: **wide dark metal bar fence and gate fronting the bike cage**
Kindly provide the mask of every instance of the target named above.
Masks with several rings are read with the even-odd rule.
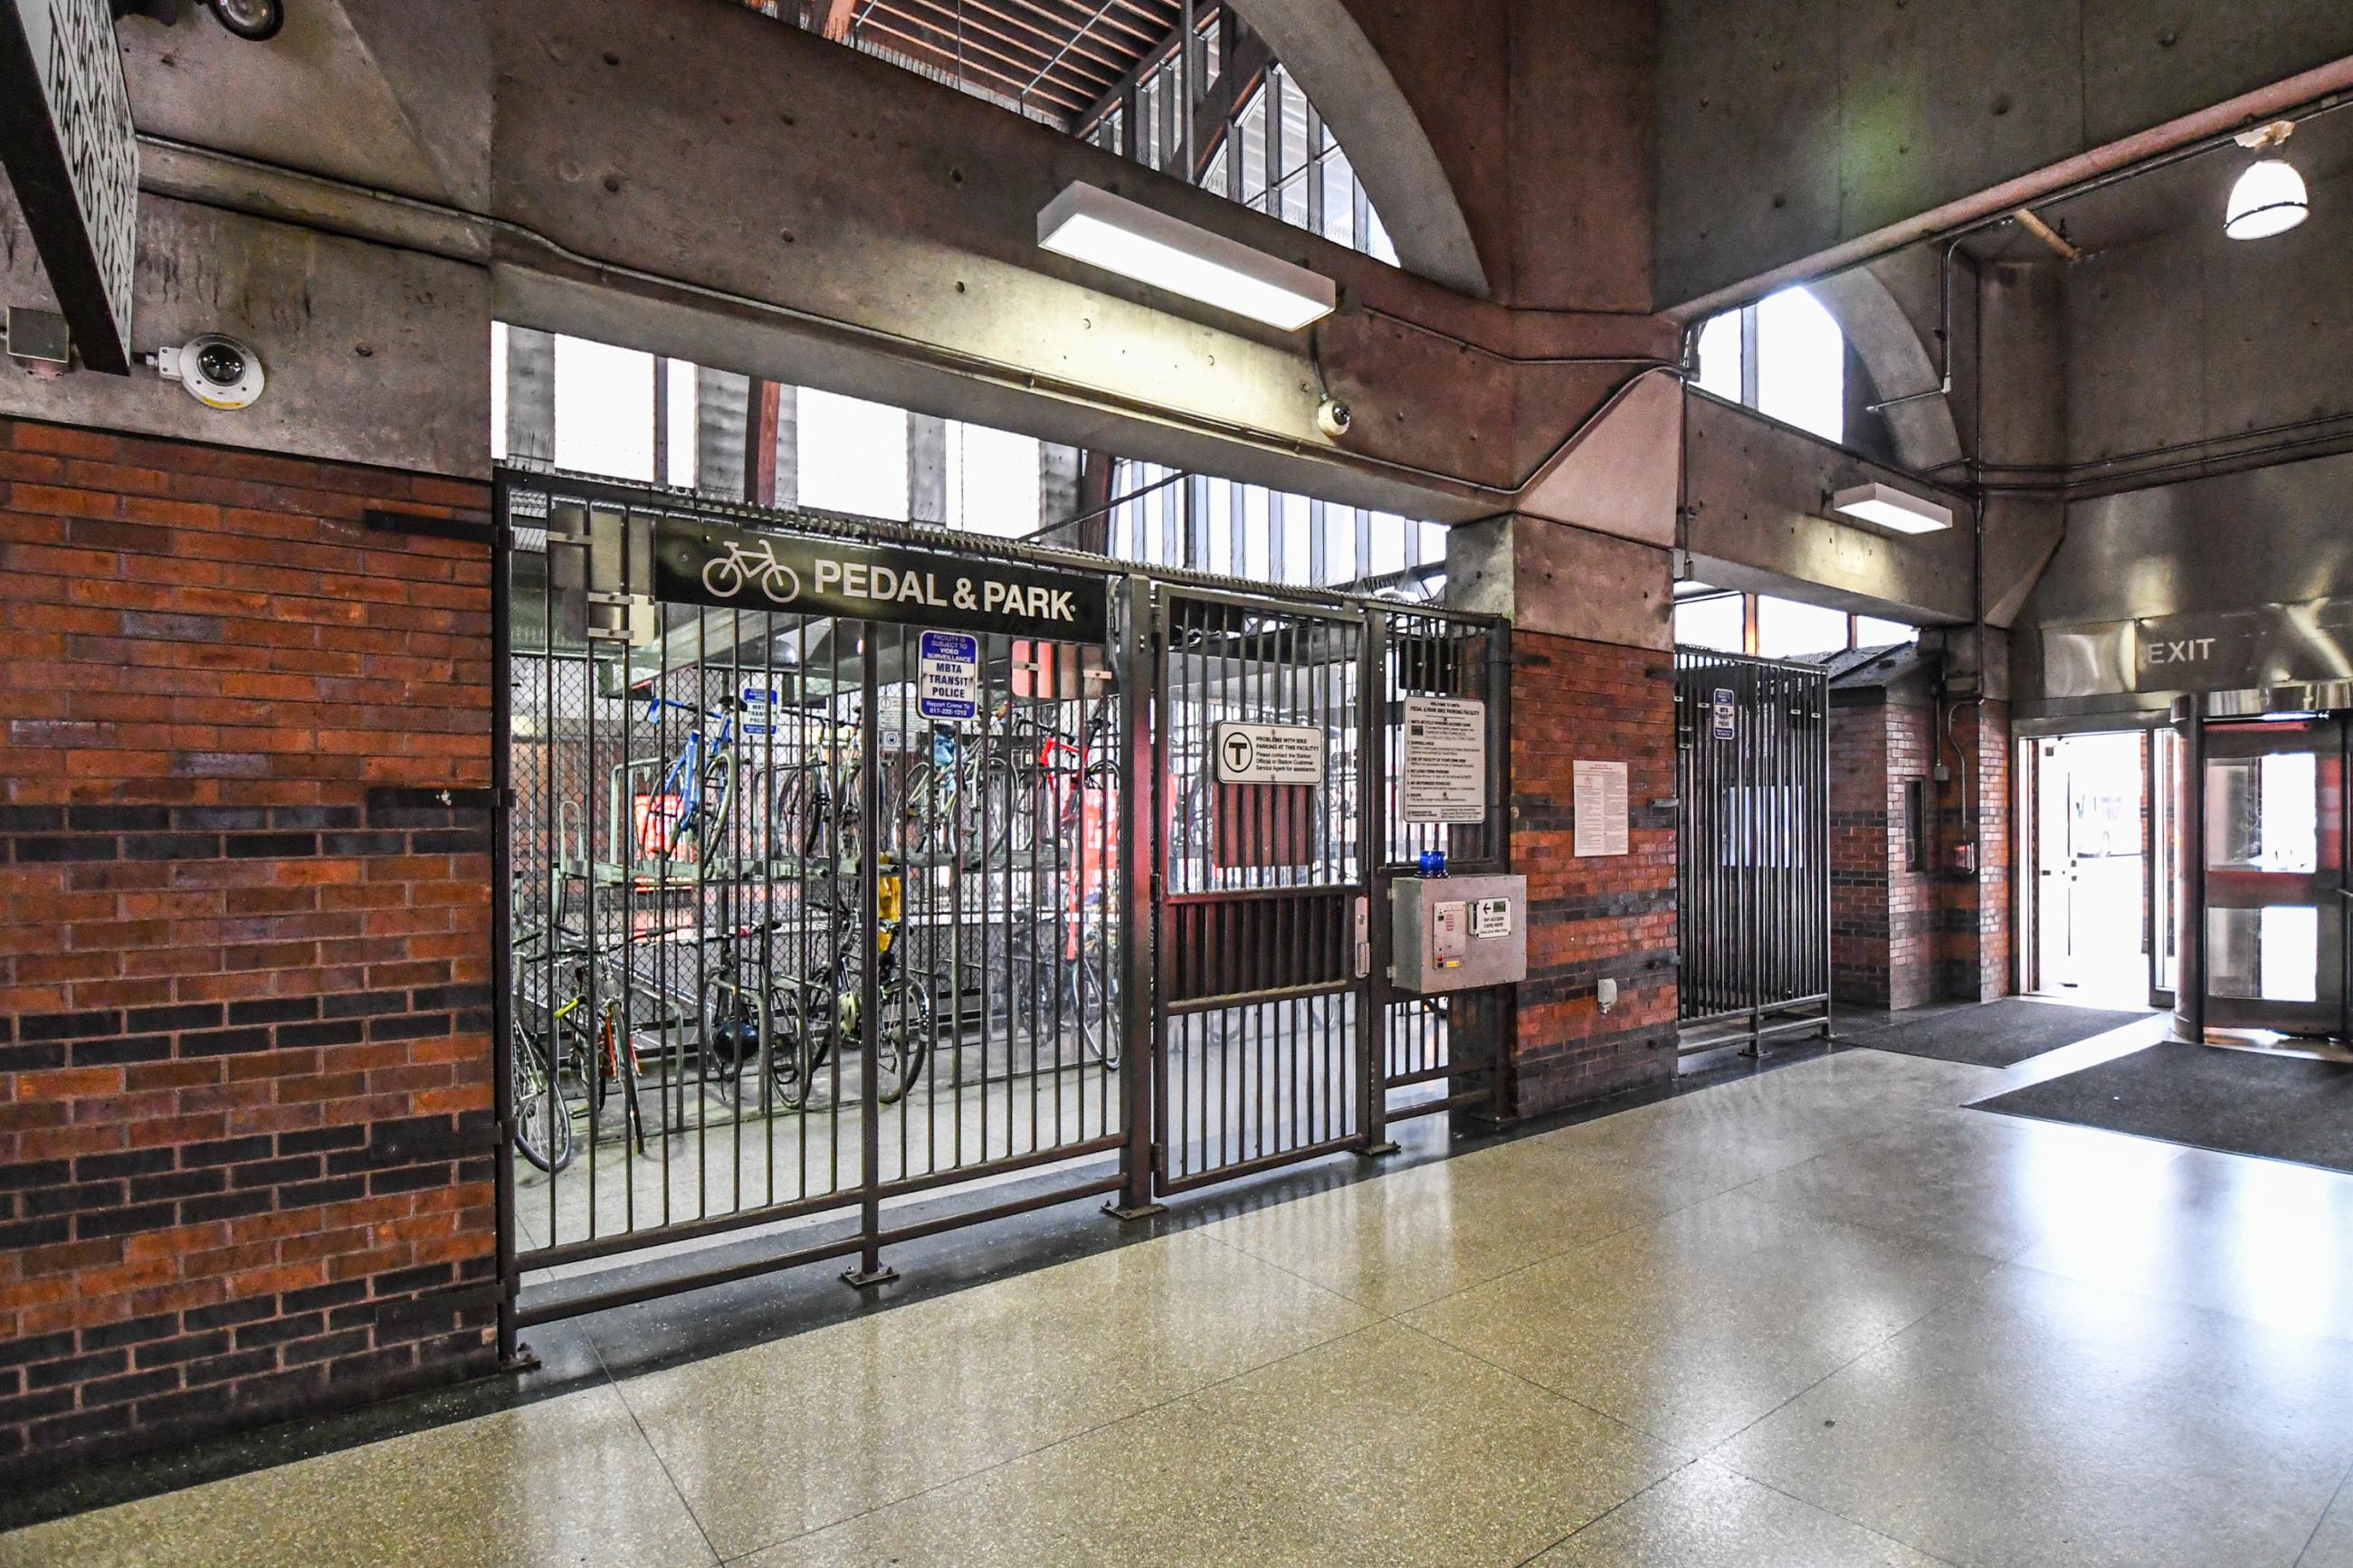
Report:
[[[1400,693],[1499,698],[1499,623],[558,475],[499,520],[508,1354],[1501,1093],[1497,1009],[1391,997],[1369,907],[1506,860],[1499,701],[1485,823],[1384,795]],[[1228,724],[1320,736],[1315,783],[1217,783]]]

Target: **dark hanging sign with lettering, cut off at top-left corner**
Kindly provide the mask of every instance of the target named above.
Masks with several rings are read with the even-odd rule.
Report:
[[[139,141],[106,0],[0,0],[0,162],[82,364],[127,376]]]

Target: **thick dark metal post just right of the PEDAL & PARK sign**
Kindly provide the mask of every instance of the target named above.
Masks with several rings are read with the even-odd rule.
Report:
[[[1120,649],[1120,731],[1127,766],[1120,776],[1120,1194],[1104,1213],[1141,1220],[1165,1206],[1153,1201],[1153,886],[1160,872],[1160,736],[1153,729],[1153,691],[1160,684],[1153,637],[1153,585],[1127,574],[1127,628]]]

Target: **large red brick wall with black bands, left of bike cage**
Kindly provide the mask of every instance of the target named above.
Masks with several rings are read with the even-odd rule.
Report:
[[[492,1356],[485,505],[0,421],[0,1476]]]

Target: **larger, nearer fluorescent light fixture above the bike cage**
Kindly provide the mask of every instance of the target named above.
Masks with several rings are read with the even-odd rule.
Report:
[[[1080,181],[1038,212],[1038,244],[1285,331],[1339,303],[1320,273]]]

